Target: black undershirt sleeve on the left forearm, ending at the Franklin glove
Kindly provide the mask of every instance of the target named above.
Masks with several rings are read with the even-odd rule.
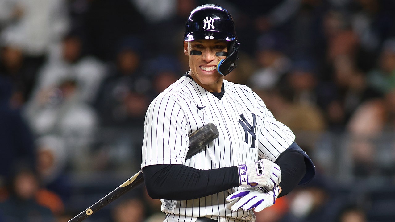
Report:
[[[236,166],[202,170],[181,164],[159,164],[143,167],[143,175],[152,199],[196,199],[239,186]]]

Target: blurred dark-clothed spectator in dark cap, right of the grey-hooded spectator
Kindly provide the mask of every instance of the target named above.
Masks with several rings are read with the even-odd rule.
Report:
[[[135,36],[119,43],[116,60],[95,100],[102,126],[143,126],[151,83],[143,73],[143,41]],[[149,67],[147,67],[149,68]]]

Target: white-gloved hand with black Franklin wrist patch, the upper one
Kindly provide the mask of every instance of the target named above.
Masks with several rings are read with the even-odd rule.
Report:
[[[262,159],[252,164],[239,165],[240,185],[243,187],[262,186],[272,190],[281,182],[280,166],[270,160]]]

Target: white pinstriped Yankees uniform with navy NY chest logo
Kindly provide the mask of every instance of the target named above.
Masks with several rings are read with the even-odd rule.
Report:
[[[258,160],[258,156],[275,161],[293,143],[292,131],[275,120],[250,88],[224,80],[224,90],[219,100],[191,78],[183,76],[156,97],[145,117],[141,167],[184,164],[197,169],[215,169],[251,163]],[[188,135],[209,122],[218,128],[219,137],[205,147],[205,152],[185,161]],[[253,129],[256,139],[248,129]],[[162,211],[168,214],[166,220],[169,222],[194,222],[202,216],[220,222],[254,221],[252,210],[227,208],[225,198],[238,189],[243,188],[193,200],[161,200]]]

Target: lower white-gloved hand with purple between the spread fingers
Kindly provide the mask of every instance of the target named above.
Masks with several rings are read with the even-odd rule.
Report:
[[[278,194],[278,186],[269,191],[261,187],[246,188],[229,195],[226,201],[230,202],[228,208],[230,207],[232,211],[242,208],[246,211],[254,209],[255,212],[259,212],[275,204]]]

